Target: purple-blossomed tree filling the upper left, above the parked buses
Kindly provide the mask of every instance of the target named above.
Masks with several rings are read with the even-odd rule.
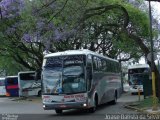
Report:
[[[72,31],[65,31],[66,26],[59,25],[61,20],[54,18],[63,11],[67,1],[2,0],[1,56],[12,58],[20,70],[41,68],[43,52],[57,51],[53,44],[72,34]]]

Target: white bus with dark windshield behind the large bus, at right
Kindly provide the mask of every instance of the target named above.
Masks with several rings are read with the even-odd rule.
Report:
[[[128,66],[128,81],[131,94],[143,93],[143,79],[145,74],[150,75],[150,67],[148,64],[135,64]]]

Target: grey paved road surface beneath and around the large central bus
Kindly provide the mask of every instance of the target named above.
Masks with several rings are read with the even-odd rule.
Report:
[[[13,117],[18,115],[18,120],[104,120],[112,114],[116,116],[138,114],[137,111],[124,108],[125,104],[138,100],[137,95],[130,95],[130,93],[123,94],[116,105],[99,106],[95,113],[88,113],[86,110],[65,110],[62,115],[57,115],[54,110],[43,110],[41,98],[13,100],[15,98],[0,98],[0,118],[5,118],[7,115],[15,115]]]

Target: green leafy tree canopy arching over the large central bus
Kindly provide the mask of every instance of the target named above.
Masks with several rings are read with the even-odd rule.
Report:
[[[143,4],[142,0],[137,2]],[[38,27],[40,23],[43,25]],[[148,23],[148,14],[125,0],[27,0],[20,16],[0,20],[0,54],[7,55],[0,66],[10,68],[16,63],[12,67],[15,71],[41,68],[45,49],[57,52],[87,48],[116,59],[122,53],[138,59],[144,53],[129,34],[148,45]],[[15,25],[14,32],[5,33]],[[24,41],[24,34],[32,40]],[[13,64],[6,64],[5,59]]]

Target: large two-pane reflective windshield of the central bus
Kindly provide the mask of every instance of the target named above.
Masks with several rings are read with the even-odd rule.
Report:
[[[86,91],[84,55],[46,58],[43,66],[43,91],[47,94],[69,94]]]

